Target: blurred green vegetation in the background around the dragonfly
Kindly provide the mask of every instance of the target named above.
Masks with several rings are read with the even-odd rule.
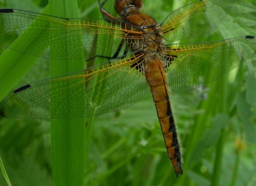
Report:
[[[191,2],[145,0],[143,10],[161,22],[170,12]],[[113,1],[109,0],[108,4],[112,5]],[[43,0],[0,2],[1,8],[33,12],[41,12],[46,5],[47,1]],[[237,1],[219,30],[193,41],[256,36],[254,5],[255,0]],[[85,1],[79,10],[81,18],[100,18],[98,1]],[[13,89],[49,77],[49,63],[39,58]],[[85,185],[207,186],[215,184],[217,171],[220,185],[255,185],[255,74],[254,60],[254,63],[243,63],[207,87],[171,92],[183,147],[184,175],[178,179],[166,156],[149,90],[131,107],[96,116],[89,150],[84,157]],[[5,78],[12,77],[6,75]],[[1,118],[0,155],[13,185],[53,185],[50,121]],[[0,185],[7,185],[2,175]]]

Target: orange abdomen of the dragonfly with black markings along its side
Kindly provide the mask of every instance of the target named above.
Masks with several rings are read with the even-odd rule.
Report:
[[[169,99],[169,91],[166,84],[164,67],[157,56],[145,60],[144,65],[146,79],[153,95],[158,120],[161,125],[167,155],[170,158],[174,171],[178,177],[179,173],[182,174],[181,153]]]

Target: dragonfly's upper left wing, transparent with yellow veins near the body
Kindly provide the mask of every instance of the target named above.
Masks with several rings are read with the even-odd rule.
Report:
[[[130,30],[126,30],[121,28],[121,24],[123,22],[118,20],[108,23],[104,19],[66,19],[22,10],[3,9],[0,10],[0,44],[44,58],[88,59],[94,51],[95,55],[106,56],[109,49],[103,43],[108,40],[114,40],[112,48],[114,54],[122,39],[123,41],[131,39],[127,33],[133,33],[133,44],[139,43],[138,39],[141,37],[134,36],[134,33],[141,33],[138,28],[130,25]],[[79,41],[81,35],[82,42]],[[65,38],[65,42],[59,38]],[[62,52],[58,47],[53,46],[52,48],[58,50],[58,54],[52,51],[52,54],[55,54],[51,56],[50,45],[60,44],[70,46],[73,50]],[[81,49],[84,50],[82,57],[78,54]],[[120,50],[122,55],[124,47]]]

